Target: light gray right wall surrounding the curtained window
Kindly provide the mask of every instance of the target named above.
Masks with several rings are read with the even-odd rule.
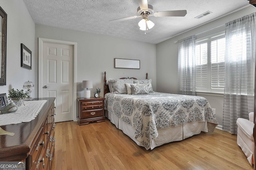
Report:
[[[178,76],[178,41],[190,35],[196,35],[210,29],[225,25],[226,22],[256,12],[256,8],[249,6],[228,16],[212,21],[156,45],[156,90],[158,92],[177,93]],[[218,123],[222,125],[223,97],[201,95],[205,97],[212,108],[216,108]]]

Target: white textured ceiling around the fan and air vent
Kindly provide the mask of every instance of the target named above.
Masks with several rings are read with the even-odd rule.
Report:
[[[154,12],[187,10],[184,17],[154,17],[150,32],[138,26],[142,18],[110,23],[109,20],[137,15],[137,0],[23,0],[35,23],[122,37],[148,43],[160,43],[188,29],[237,9],[248,6],[248,0],[148,0]],[[211,14],[196,19],[207,11]]]

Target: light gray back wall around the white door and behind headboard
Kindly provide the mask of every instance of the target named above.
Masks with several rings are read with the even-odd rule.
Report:
[[[36,70],[39,37],[77,43],[77,97],[84,96],[84,89],[81,88],[82,80],[93,81],[91,96],[96,92],[95,88],[102,88],[101,95],[103,95],[105,71],[107,78],[139,79],[145,79],[148,72],[153,89],[156,90],[156,45],[46,25],[36,24],[35,28]],[[114,68],[114,58],[140,60],[140,69]]]

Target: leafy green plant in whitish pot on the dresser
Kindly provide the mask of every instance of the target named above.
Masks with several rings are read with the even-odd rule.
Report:
[[[8,99],[12,100],[17,106],[24,106],[24,100],[28,98],[28,94],[24,90],[8,90]]]

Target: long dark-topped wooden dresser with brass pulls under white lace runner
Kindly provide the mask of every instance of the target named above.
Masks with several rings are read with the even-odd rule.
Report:
[[[34,100],[47,100],[34,120],[1,126],[15,135],[0,135],[0,161],[26,161],[26,170],[50,170],[55,147],[55,98]]]

